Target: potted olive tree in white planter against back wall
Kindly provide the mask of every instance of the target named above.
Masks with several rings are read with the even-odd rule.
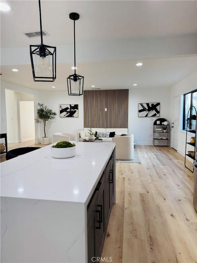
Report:
[[[49,144],[49,137],[46,137],[45,130],[46,122],[49,120],[53,120],[56,115],[57,113],[52,111],[52,109],[49,109],[43,103],[38,103],[37,118],[35,119],[35,123],[43,122],[44,124],[44,137],[42,137],[42,144]]]

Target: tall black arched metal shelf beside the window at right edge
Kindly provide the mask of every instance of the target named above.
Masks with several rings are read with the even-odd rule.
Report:
[[[190,115],[191,112],[195,112],[195,115]],[[191,118],[190,118],[191,116]],[[185,167],[187,169],[189,169],[192,173],[194,172],[194,168],[191,170],[189,167],[186,166],[186,156],[188,156],[189,158],[193,159],[193,163],[195,161],[195,157],[194,157],[194,154],[191,154],[191,152],[194,152],[195,153],[195,136],[192,136],[190,139],[189,139],[189,142],[187,142],[187,132],[191,132],[191,129],[190,129],[190,121],[191,120],[194,120],[194,116],[195,116],[195,120],[196,120],[196,108],[194,106],[191,106],[188,110],[188,113],[187,113],[187,128],[186,128],[186,142],[185,142]],[[192,130],[192,131],[195,131],[195,130]],[[188,151],[187,150],[187,146],[190,145],[190,146],[193,146],[194,147],[194,151]]]

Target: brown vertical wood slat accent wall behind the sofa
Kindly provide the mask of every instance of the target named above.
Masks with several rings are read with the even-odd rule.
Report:
[[[84,127],[128,128],[128,95],[128,89],[85,90]]]

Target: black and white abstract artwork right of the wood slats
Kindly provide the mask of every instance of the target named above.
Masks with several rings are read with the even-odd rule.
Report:
[[[138,103],[138,117],[159,117],[160,102]]]

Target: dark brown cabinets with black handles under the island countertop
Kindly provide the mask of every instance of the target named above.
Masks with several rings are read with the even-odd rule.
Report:
[[[115,150],[87,206],[88,262],[101,257],[112,203],[115,203]]]

